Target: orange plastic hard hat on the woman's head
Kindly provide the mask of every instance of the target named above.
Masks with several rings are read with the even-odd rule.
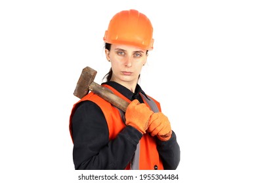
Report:
[[[110,20],[104,41],[110,44],[129,44],[152,50],[153,27],[150,20],[137,10],[123,10]]]

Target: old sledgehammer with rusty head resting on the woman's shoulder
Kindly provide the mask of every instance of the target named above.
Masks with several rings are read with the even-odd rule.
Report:
[[[75,87],[74,95],[81,99],[85,95],[89,93],[89,91],[95,93],[96,95],[102,97],[112,105],[116,106],[117,108],[126,111],[129,103],[115,95],[112,91],[108,90],[99,84],[93,82],[95,79],[97,71],[91,69],[91,67],[85,67],[79,77],[77,85]]]

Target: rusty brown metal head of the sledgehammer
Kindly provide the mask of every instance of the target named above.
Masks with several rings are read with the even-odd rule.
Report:
[[[85,67],[83,69],[75,87],[75,97],[81,99],[89,93],[89,86],[95,79],[96,73],[97,71],[91,69],[91,67]]]

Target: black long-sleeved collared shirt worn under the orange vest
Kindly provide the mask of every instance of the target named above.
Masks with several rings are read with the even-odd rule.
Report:
[[[116,82],[106,82],[130,99],[143,103],[139,92],[146,95],[137,84],[135,93]],[[92,101],[79,104],[72,118],[74,141],[73,159],[75,169],[125,169],[133,158],[142,134],[127,125],[115,139],[110,141],[108,125],[100,107]],[[173,131],[169,141],[156,138],[157,149],[164,169],[177,169],[180,161],[180,148]]]

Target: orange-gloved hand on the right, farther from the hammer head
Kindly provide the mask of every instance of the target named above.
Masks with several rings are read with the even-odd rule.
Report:
[[[168,141],[171,138],[171,124],[162,112],[152,114],[148,122],[148,130],[152,137],[155,135],[160,141]]]

